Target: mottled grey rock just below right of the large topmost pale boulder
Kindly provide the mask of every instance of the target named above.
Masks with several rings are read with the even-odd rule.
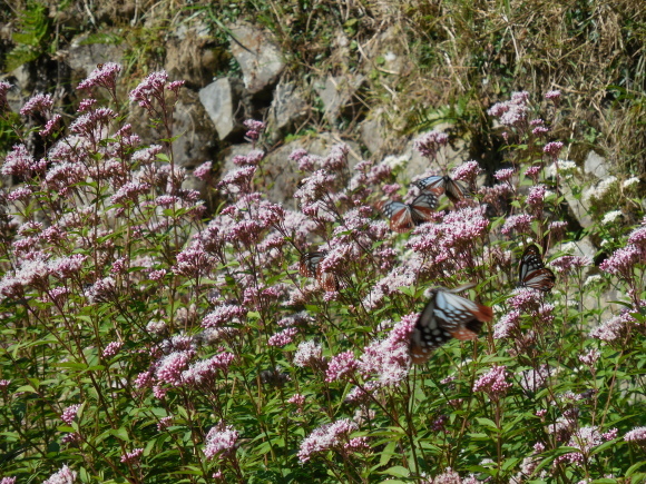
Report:
[[[297,127],[309,113],[310,107],[303,89],[294,82],[281,82],[274,90],[274,99],[267,117],[267,131],[276,141],[281,134]]]

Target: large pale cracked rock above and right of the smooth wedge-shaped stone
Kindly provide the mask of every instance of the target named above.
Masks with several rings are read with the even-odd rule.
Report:
[[[267,34],[247,23],[235,23],[229,30],[234,38],[231,51],[242,69],[245,87],[252,95],[265,90],[285,68],[281,50]]]

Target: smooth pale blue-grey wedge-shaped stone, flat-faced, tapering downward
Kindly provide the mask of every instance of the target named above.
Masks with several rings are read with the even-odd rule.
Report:
[[[243,86],[238,79],[222,78],[199,90],[199,101],[215,125],[219,139],[242,129]],[[243,111],[243,112],[241,112]],[[241,116],[242,115],[242,116]]]

